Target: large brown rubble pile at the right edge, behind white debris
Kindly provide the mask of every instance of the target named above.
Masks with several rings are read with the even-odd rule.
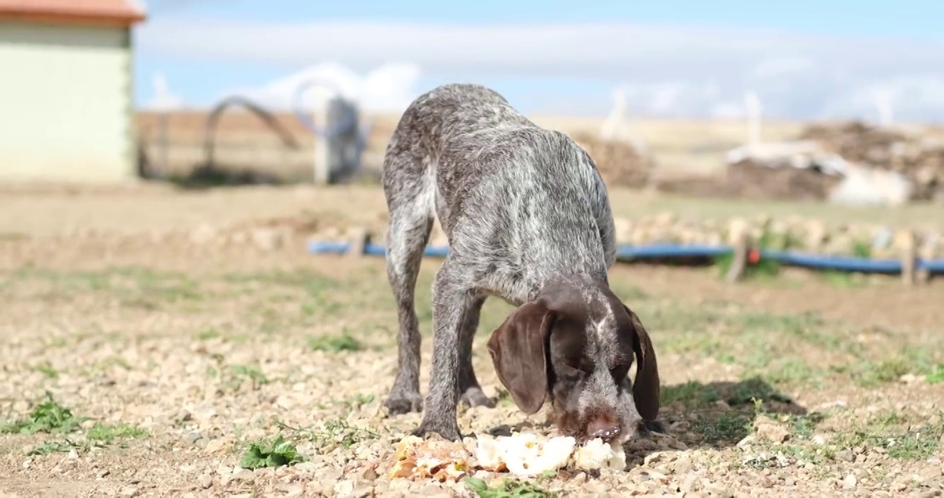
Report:
[[[816,141],[823,150],[846,160],[902,174],[912,183],[912,197],[928,200],[944,195],[944,143],[858,122],[811,125],[801,140]]]

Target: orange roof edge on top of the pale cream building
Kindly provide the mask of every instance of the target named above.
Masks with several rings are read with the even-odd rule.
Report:
[[[135,0],[0,0],[0,19],[132,25],[144,17]]]

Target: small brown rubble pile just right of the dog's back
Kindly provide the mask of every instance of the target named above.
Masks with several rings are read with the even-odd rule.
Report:
[[[629,141],[605,140],[587,132],[572,133],[570,137],[593,158],[607,186],[638,189],[649,185],[655,164]]]

